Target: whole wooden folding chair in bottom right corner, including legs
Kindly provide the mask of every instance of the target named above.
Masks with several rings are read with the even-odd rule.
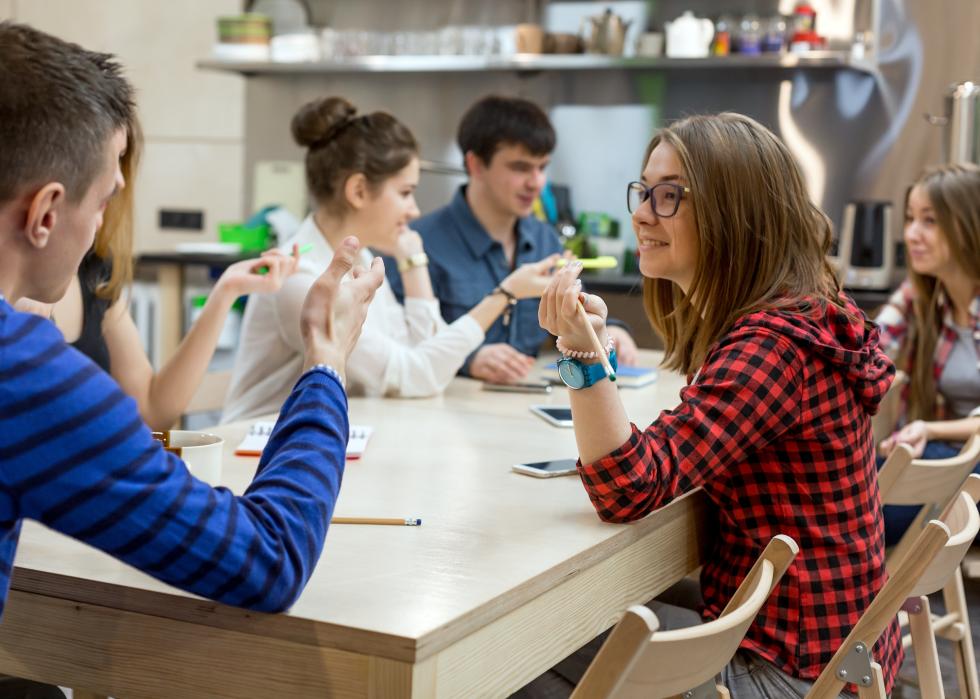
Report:
[[[942,519],[929,521],[916,537],[910,548],[911,555],[899,562],[890,574],[888,582],[813,683],[807,699],[836,699],[847,682],[857,685],[859,699],[886,699],[881,666],[874,662],[871,649],[899,610],[923,605],[924,602],[923,608],[928,613],[925,596],[941,589],[949,581],[980,530],[977,498],[980,498],[980,476],[971,475],[964,489],[943,513]],[[922,625],[917,625],[920,629],[918,633],[924,636],[923,646],[927,646],[931,640],[934,655],[935,637],[928,617],[923,617],[923,623],[926,632],[923,634]],[[922,653],[923,658],[926,654]],[[942,699],[944,695],[938,662],[932,663],[930,658],[930,662],[920,663],[918,639],[916,669],[923,698]]]

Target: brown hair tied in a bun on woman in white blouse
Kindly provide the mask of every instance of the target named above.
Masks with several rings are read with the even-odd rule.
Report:
[[[306,151],[306,184],[317,204],[347,210],[344,182],[361,173],[377,188],[418,157],[415,136],[387,112],[357,115],[343,97],[324,97],[293,116],[293,139]]]

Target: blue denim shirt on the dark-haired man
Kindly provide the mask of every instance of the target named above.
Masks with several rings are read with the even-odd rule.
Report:
[[[412,228],[422,236],[429,256],[429,276],[432,290],[451,323],[469,311],[511,273],[503,246],[490,237],[476,220],[466,202],[466,186],[457,190],[453,200],[441,209],[412,222]],[[561,252],[562,245],[555,229],[533,216],[518,219],[516,265],[539,260]],[[401,275],[391,260],[385,270],[392,289],[401,300],[404,292]],[[548,333],[538,325],[538,299],[517,302],[506,327],[503,315],[487,330],[485,344],[506,342],[519,352],[537,356],[538,348]],[[460,373],[469,374],[470,354]]]

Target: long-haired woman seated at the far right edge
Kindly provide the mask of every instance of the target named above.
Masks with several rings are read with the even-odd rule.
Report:
[[[909,278],[875,322],[881,346],[909,375],[898,431],[879,446],[908,444],[915,456],[954,456],[980,428],[980,168],[928,170],[905,197]],[[917,507],[885,508],[896,543]]]

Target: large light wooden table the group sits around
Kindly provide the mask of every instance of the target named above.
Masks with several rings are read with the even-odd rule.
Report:
[[[647,356],[647,361],[650,361]],[[646,424],[682,381],[622,389]],[[513,473],[574,456],[572,430],[531,415],[551,396],[459,379],[426,400],[353,399],[375,427],[348,462],[337,515],[419,516],[421,527],[335,525],[286,614],[175,590],[25,522],[0,624],[0,673],[116,697],[500,697],[699,563],[699,492],[631,525],[598,520],[578,478]],[[221,428],[223,481],[241,492],[247,423]]]

